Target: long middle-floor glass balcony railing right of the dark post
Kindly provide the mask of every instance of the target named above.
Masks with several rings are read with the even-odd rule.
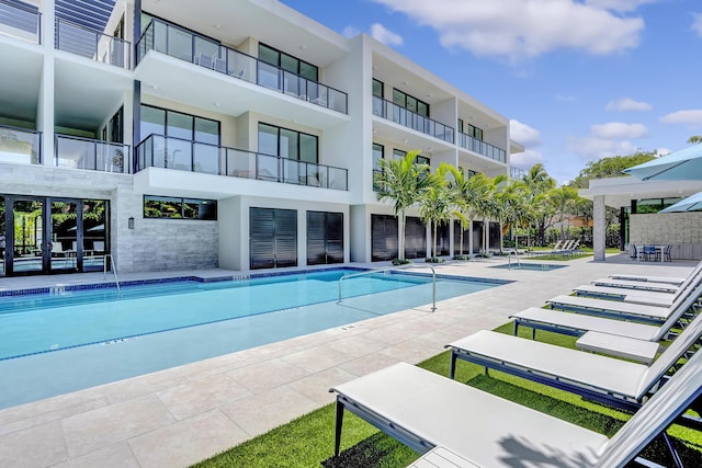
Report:
[[[229,175],[321,189],[348,190],[348,171],[181,138],[150,135],[135,151],[135,172],[146,168]]]

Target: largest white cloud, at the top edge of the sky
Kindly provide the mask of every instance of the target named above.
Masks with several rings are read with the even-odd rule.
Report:
[[[644,21],[577,0],[373,0],[433,27],[444,47],[512,62],[558,49],[593,55],[638,46]],[[632,5],[644,0],[629,0]]]

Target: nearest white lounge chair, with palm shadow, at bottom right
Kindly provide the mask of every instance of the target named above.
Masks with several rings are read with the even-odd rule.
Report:
[[[344,409],[412,449],[440,447],[430,467],[623,467],[702,395],[702,353],[694,355],[613,436],[522,407],[445,377],[399,363],[341,384],[337,392],[335,455]],[[650,466],[650,465],[649,465]]]

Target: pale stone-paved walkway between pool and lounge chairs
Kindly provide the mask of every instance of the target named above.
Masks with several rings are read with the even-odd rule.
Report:
[[[399,361],[423,361],[452,340],[492,329],[574,286],[614,272],[686,276],[693,266],[587,258],[545,272],[489,267],[503,263],[438,266],[439,273],[516,282],[441,301],[433,313],[429,307],[405,310],[2,410],[0,466],[186,467],[333,401],[327,391],[333,385]],[[91,279],[3,278],[0,288],[77,278]]]

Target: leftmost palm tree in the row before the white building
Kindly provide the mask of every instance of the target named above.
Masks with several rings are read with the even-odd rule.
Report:
[[[430,183],[428,164],[418,164],[415,160],[419,151],[408,151],[400,159],[378,160],[380,171],[375,173],[377,199],[390,201],[397,216],[398,252],[397,258],[405,260],[405,212],[419,199]]]

